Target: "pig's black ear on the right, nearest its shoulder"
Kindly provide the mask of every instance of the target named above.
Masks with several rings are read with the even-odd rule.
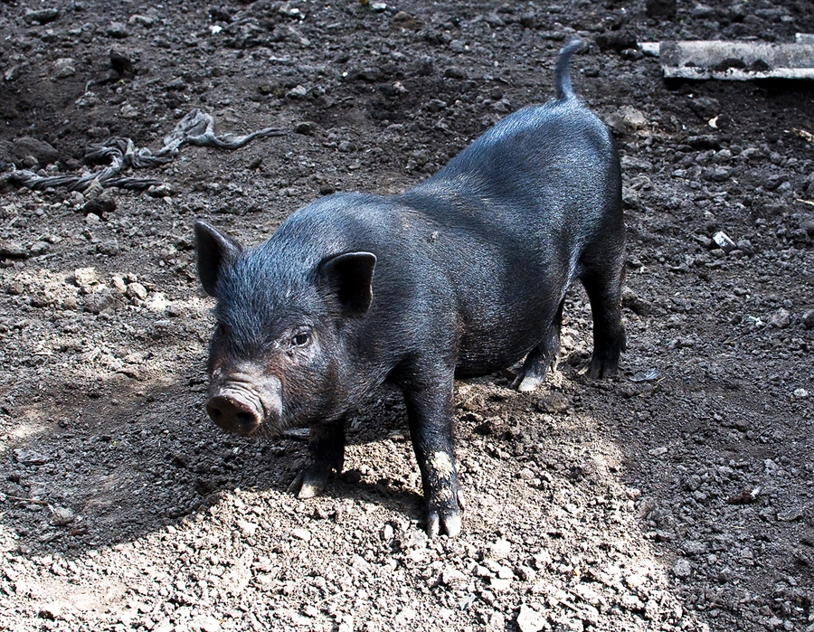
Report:
[[[376,256],[372,252],[346,252],[323,259],[319,278],[345,312],[361,316],[373,300],[375,267]]]

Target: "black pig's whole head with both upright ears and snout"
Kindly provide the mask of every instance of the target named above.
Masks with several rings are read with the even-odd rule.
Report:
[[[212,420],[241,435],[338,419],[355,405],[354,332],[373,299],[370,252],[322,257],[308,240],[244,250],[195,222],[198,273],[218,299],[209,353]]]

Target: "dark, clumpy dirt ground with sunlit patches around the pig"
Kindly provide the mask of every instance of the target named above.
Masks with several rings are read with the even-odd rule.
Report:
[[[814,630],[814,88],[667,83],[633,48],[791,42],[814,8],[677,6],[0,2],[0,628]],[[321,194],[409,188],[551,98],[573,33],[623,156],[620,374],[585,374],[573,288],[542,389],[458,383],[457,539],[422,531],[395,392],[298,501],[301,437],[206,417],[194,219],[258,243]],[[109,137],[155,152],[193,108],[288,133],[184,146],[128,172],[146,192],[15,184]]]

